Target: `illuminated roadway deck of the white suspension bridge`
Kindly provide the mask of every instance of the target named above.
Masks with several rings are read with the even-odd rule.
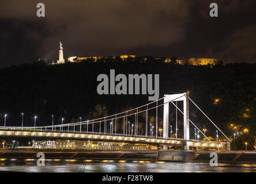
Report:
[[[71,140],[95,140],[112,141],[122,143],[139,143],[154,145],[178,145],[184,146],[189,142],[190,147],[219,148],[220,150],[229,150],[229,144],[226,142],[204,141],[204,140],[184,140],[163,137],[145,137],[145,136],[124,136],[123,134],[99,134],[92,132],[52,132],[51,130],[17,130],[2,129],[0,137],[26,137],[26,138],[44,138],[44,139],[71,139]]]

